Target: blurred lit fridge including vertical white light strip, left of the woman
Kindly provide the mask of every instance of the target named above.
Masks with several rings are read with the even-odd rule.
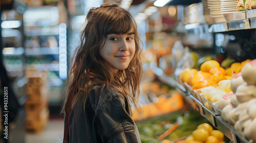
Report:
[[[26,70],[47,71],[49,106],[60,106],[67,78],[67,25],[57,7],[28,8],[24,13]]]

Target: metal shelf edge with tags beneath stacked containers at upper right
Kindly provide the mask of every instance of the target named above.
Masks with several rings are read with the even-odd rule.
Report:
[[[245,30],[256,28],[256,17],[250,19],[233,20],[222,23],[215,23],[210,26],[210,33]]]

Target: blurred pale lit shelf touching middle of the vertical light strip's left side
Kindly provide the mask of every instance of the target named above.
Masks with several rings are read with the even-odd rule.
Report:
[[[25,50],[26,56],[32,55],[59,55],[59,47],[38,47]]]

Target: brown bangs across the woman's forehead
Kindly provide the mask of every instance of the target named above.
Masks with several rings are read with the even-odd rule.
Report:
[[[133,30],[133,31],[132,31]],[[119,15],[116,19],[110,20],[106,23],[106,35],[115,34],[126,34],[129,32],[135,32],[135,23],[130,17],[123,17]]]

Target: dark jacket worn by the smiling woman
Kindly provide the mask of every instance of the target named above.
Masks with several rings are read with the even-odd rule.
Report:
[[[81,97],[73,107],[68,142],[141,142],[127,99],[112,87],[100,92],[102,87],[99,84],[90,91],[84,109]]]

